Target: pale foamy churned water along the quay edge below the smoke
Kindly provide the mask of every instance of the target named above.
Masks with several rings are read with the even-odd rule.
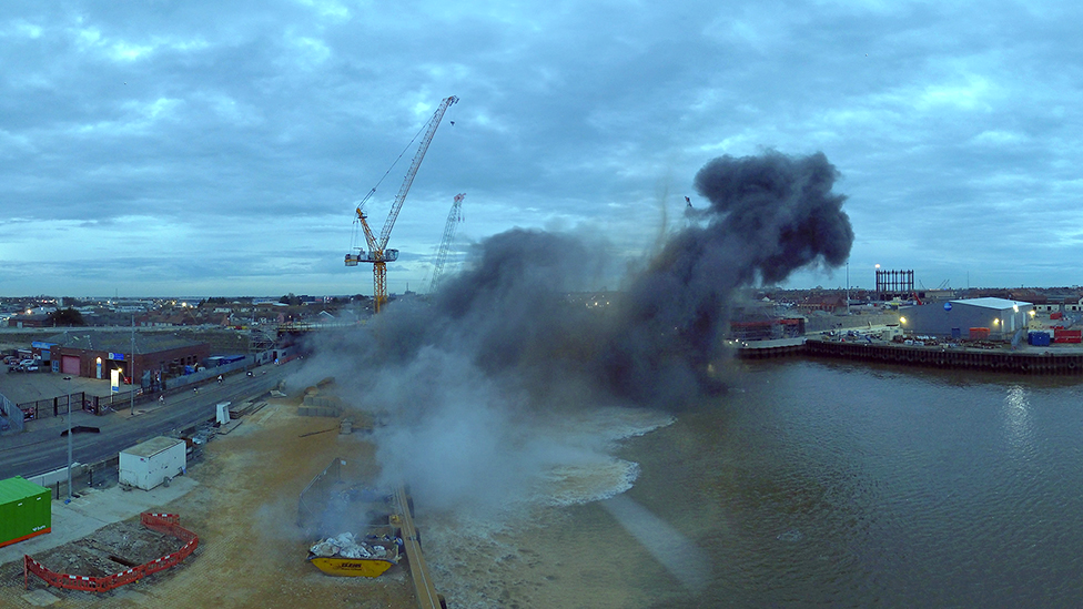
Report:
[[[581,548],[578,540],[555,551],[540,548],[550,546],[554,531],[570,530],[569,510],[632,487],[639,465],[614,455],[620,440],[675,420],[665,413],[613,407],[551,417],[533,429],[524,449],[542,453],[547,466],[524,496],[508,497],[496,515],[467,509],[418,518],[442,592],[457,607],[526,607],[542,589],[551,598],[565,586],[557,574],[560,555],[581,554]],[[553,572],[543,572],[547,567]]]

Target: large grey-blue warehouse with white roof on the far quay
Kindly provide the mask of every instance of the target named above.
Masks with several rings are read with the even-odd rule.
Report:
[[[942,338],[1011,341],[1025,331],[1033,305],[1006,298],[969,298],[900,309],[903,329]]]

